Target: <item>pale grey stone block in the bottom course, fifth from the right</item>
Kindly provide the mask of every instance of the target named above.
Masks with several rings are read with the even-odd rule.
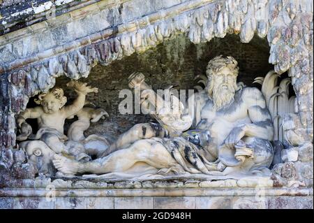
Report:
[[[114,209],[152,209],[153,197],[114,198]]]

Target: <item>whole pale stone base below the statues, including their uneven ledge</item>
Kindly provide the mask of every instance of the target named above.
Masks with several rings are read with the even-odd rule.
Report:
[[[0,189],[1,208],[96,209],[313,209],[311,188],[258,187],[246,180],[144,180],[91,182],[29,180],[28,187]],[[49,186],[49,187],[47,187]]]

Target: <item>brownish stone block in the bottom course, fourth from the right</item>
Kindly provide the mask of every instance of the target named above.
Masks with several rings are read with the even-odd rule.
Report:
[[[195,209],[195,197],[154,197],[154,209]]]

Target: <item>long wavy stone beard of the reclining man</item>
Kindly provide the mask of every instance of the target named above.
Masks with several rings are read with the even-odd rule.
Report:
[[[229,85],[227,89],[223,87],[214,87],[213,89],[213,102],[214,108],[220,110],[227,108],[234,101],[235,89],[232,85]]]

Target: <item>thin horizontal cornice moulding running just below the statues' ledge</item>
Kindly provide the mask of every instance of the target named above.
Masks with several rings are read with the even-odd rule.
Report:
[[[51,189],[51,188],[50,188]],[[45,197],[50,189],[3,188],[0,197]],[[55,189],[56,197],[112,196],[313,196],[313,188],[154,188],[154,189]]]

